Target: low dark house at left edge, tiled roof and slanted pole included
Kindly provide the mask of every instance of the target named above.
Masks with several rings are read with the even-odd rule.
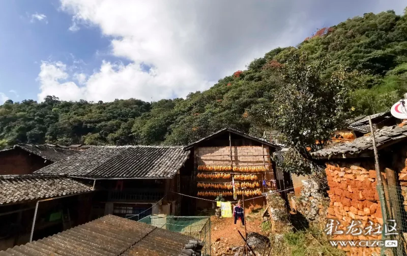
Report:
[[[0,250],[91,220],[91,184],[53,175],[0,175],[0,188]]]

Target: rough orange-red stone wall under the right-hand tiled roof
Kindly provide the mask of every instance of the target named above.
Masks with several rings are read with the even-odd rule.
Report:
[[[383,224],[379,195],[376,190],[376,171],[372,162],[327,163],[326,174],[328,196],[331,199],[328,215],[330,219],[341,222],[340,229],[350,225],[352,220],[360,220],[362,227],[368,221]],[[335,240],[370,240],[381,239],[381,236],[337,235]],[[342,248],[348,255],[372,255],[379,253],[380,248]],[[363,254],[363,255],[364,255]]]

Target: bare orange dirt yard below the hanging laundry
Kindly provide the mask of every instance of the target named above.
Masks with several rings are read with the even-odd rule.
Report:
[[[247,233],[256,232],[261,235],[267,235],[261,232],[261,214],[263,208],[255,206],[254,209],[246,209],[246,229]],[[243,246],[244,241],[239,235],[238,230],[245,235],[245,227],[241,221],[234,223],[234,218],[220,218],[211,216],[211,241],[212,255],[234,255],[231,249],[237,246]]]

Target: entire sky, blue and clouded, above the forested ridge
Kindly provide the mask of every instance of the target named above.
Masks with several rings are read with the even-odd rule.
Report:
[[[0,104],[47,94],[89,101],[185,97],[318,27],[366,12],[401,14],[407,6],[401,0],[209,2],[1,1]]]

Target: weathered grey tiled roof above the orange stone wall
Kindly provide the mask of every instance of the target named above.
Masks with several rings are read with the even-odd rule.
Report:
[[[382,129],[376,130],[374,132],[374,138],[376,139],[377,149],[381,149],[390,144],[399,142],[407,138],[407,125],[403,127],[385,126]],[[356,138],[352,142],[348,143],[338,143],[332,147],[324,148],[315,152],[312,152],[311,155],[315,158],[345,158],[345,157],[357,157],[361,153],[373,152],[373,142],[370,135],[362,136]]]

